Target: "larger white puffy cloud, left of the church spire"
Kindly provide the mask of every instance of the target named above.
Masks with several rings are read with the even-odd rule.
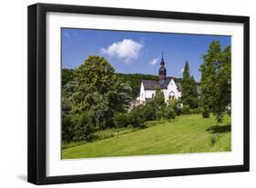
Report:
[[[101,48],[101,54],[108,54],[110,57],[117,56],[122,58],[126,63],[129,63],[131,59],[136,59],[143,47],[142,44],[133,41],[131,39],[124,39],[117,43],[109,45],[107,48]]]

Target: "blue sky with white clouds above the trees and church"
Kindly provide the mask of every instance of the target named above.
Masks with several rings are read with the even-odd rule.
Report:
[[[200,81],[202,54],[210,42],[230,45],[224,35],[180,35],[62,28],[62,67],[76,68],[88,55],[104,56],[117,73],[158,74],[163,51],[168,76],[181,77],[186,60],[190,73]]]

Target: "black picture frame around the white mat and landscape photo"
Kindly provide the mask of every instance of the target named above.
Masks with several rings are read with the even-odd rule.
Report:
[[[212,21],[243,24],[243,164],[124,173],[96,173],[68,176],[46,176],[46,13],[76,13],[90,15],[122,15],[191,21]],[[208,15],[153,10],[94,7],[81,5],[36,4],[28,6],[28,137],[27,181],[35,184],[80,183],[133,178],[192,175],[204,173],[232,173],[249,171],[250,137],[250,18],[236,15]]]

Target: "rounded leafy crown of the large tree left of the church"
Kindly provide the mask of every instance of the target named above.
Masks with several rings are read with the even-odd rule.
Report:
[[[103,57],[88,56],[75,70],[77,86],[73,94],[73,112],[87,111],[99,95],[100,100],[107,103],[108,94],[115,91],[118,81],[114,71]]]

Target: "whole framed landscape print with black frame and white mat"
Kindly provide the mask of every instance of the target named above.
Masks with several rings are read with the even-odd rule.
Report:
[[[28,182],[249,171],[249,17],[28,6]]]

